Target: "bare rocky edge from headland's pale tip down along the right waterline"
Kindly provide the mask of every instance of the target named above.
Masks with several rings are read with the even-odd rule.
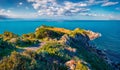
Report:
[[[70,45],[71,41],[80,41],[80,44],[83,44],[89,51],[94,52],[103,60],[105,60],[114,70],[120,70],[120,63],[112,61],[105,50],[98,49],[95,45],[91,44],[91,40],[101,37],[100,33],[95,33],[93,31],[87,30],[87,35],[77,34],[74,38],[71,38],[68,35],[62,36],[60,42]]]

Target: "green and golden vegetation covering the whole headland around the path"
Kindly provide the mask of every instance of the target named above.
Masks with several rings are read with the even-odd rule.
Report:
[[[0,34],[0,70],[112,70],[103,58],[91,51],[92,48],[86,47],[87,42],[82,42],[85,34],[87,32],[80,28],[72,31],[45,25],[21,36],[4,32]],[[75,40],[76,35],[83,38]],[[37,51],[23,48],[41,42],[45,44]]]

